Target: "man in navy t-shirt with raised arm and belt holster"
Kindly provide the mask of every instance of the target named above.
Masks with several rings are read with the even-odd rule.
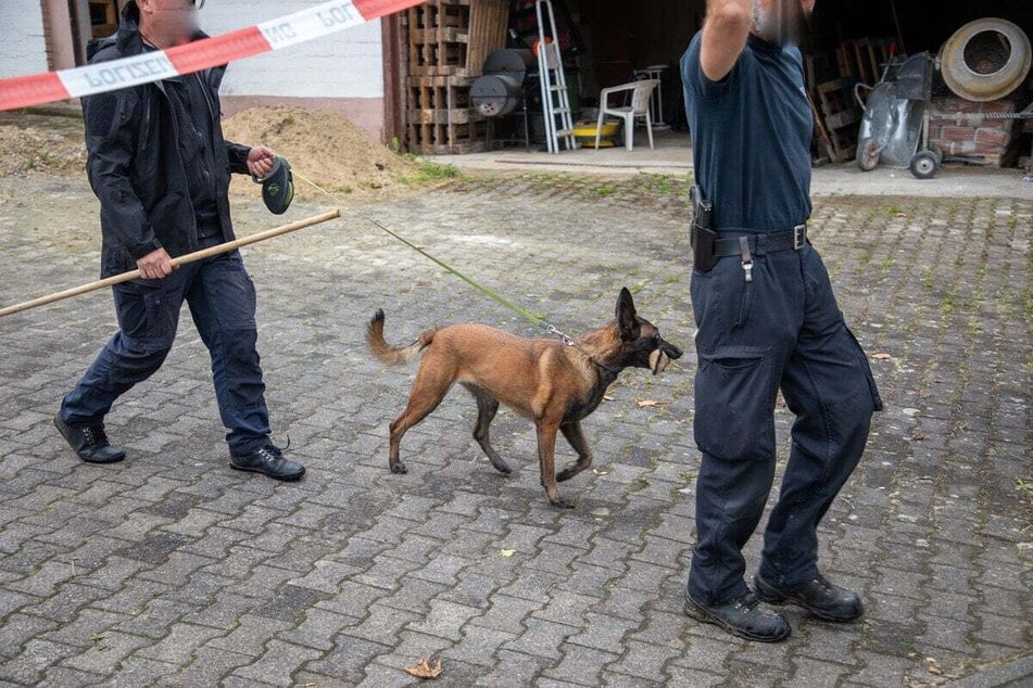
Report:
[[[691,291],[703,454],[685,612],[761,641],[791,632],[761,600],[829,621],[861,615],[860,598],[819,572],[816,531],[882,407],[807,241],[814,120],[794,35],[814,4],[709,0],[681,61],[698,184]],[[796,422],[751,590],[741,550],[774,476],[779,390]]]

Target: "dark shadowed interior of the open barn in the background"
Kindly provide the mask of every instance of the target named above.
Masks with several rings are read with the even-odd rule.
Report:
[[[539,40],[536,0],[512,0],[508,48],[534,49]],[[558,40],[564,56],[570,107],[575,118],[595,117],[602,89],[635,79],[658,78],[653,94],[653,120],[660,129],[684,131],[684,103],[678,61],[706,14],[705,0],[553,0]],[[819,130],[827,129],[832,161],[854,156],[862,110],[854,85],[872,86],[896,56],[928,51],[936,55],[967,23],[984,17],[1007,20],[1019,31],[1033,26],[1033,3],[1013,0],[818,0],[801,41],[808,91],[815,102]],[[546,36],[549,31],[546,29]],[[999,52],[999,37],[987,39]],[[953,95],[934,71],[932,97]],[[1006,99],[1013,111],[1030,104],[1026,78]],[[525,89],[531,112],[542,111],[533,81]],[[957,103],[946,106],[956,107]],[[531,123],[533,125],[533,122]],[[827,126],[826,126],[827,125]],[[1012,148],[1022,145],[1023,123],[1015,125]],[[1029,123],[1026,123],[1026,126]],[[500,123],[503,138],[505,125]],[[930,128],[932,131],[932,128]],[[938,130],[936,130],[938,131]],[[534,135],[540,137],[541,131]],[[974,129],[973,129],[974,137]],[[1026,140],[1029,136],[1025,135]],[[1029,144],[1024,148],[1029,150]],[[820,157],[817,156],[817,157]]]

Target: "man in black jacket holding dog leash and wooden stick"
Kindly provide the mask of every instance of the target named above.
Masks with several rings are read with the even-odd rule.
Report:
[[[203,2],[203,0],[202,0]],[[118,33],[91,46],[91,63],[167,49],[203,37],[194,0],[128,0]],[[212,374],[235,469],[298,480],[304,467],[269,438],[255,348],[254,285],[239,252],[174,270],[172,257],[234,239],[230,173],[265,177],[273,152],[225,141],[218,86],[225,67],[83,99],[87,171],[100,199],[101,271],[139,268],[114,288],[119,331],[61,404],[58,430],[90,463],[125,453],[108,441],[115,399],[154,373],[172,348],[186,301],[212,357]]]

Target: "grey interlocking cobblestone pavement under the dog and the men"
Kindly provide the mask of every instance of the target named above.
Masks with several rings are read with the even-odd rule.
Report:
[[[0,303],[93,279],[88,189],[18,184],[0,203]],[[700,461],[683,187],[522,175],[363,207],[572,332],[608,319],[628,284],[688,349],[658,379],[626,372],[587,421],[596,463],[564,485],[575,511],[549,507],[532,428],[506,411],[493,435],[519,470],[490,467],[462,391],[405,436],[410,473],[388,472],[415,368],[366,354],[376,308],[394,342],[459,320],[534,332],[354,218],[245,250],[277,438],[310,471],[299,484],[229,470],[188,317],[110,416],[130,456],[104,468],[51,418],[115,329],[110,296],[0,320],[0,680],[381,687],[433,657],[446,686],[886,687],[1030,654],[1033,201],[817,202],[815,243],[886,402],[821,528],[824,571],[868,613],[829,625],[791,610],[792,638],[764,646],[681,611]],[[238,206],[242,233],[276,224]],[[790,420],[780,406],[783,459]],[[751,568],[758,551],[755,538]]]

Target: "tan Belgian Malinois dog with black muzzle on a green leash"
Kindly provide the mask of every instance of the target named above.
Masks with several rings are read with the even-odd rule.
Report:
[[[369,321],[366,342],[378,360],[392,366],[408,362],[423,352],[408,405],[391,423],[388,466],[392,473],[407,470],[399,459],[402,435],[433,411],[458,382],[477,399],[474,438],[500,472],[508,474],[512,469],[488,436],[499,404],[534,421],[542,486],[553,506],[567,509],[574,504],[559,496],[556,482],[570,480],[592,464],[581,419],[595,410],[625,368],[648,368],[658,374],[682,353],[635,314],[627,289],[620,290],[617,298],[616,319],[572,345],[526,340],[488,326],[463,323],[427,330],[408,346],[395,348],[383,339],[383,310]],[[558,475],[557,431],[578,455],[577,461]]]

